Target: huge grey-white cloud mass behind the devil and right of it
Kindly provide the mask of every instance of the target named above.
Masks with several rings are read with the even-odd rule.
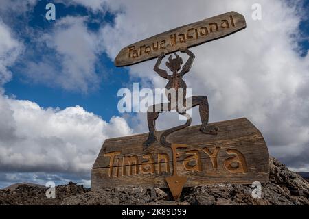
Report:
[[[253,3],[262,5],[262,21],[251,19]],[[247,29],[192,48],[196,60],[185,76],[187,85],[193,94],[207,94],[212,121],[247,117],[262,131],[273,155],[291,167],[308,168],[309,58],[297,51],[299,3],[113,1],[124,12],[117,14],[114,25],[102,28],[102,42],[113,59],[122,47],[168,29],[231,10],[244,14]],[[154,64],[132,66],[130,74],[164,87],[166,81],[152,71]],[[145,116],[138,116],[142,123]]]

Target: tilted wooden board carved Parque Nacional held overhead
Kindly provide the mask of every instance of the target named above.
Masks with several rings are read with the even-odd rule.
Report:
[[[182,47],[194,47],[216,40],[246,28],[244,16],[228,12],[190,25],[185,25],[152,36],[122,49],[115,59],[115,66],[128,66],[169,54]]]

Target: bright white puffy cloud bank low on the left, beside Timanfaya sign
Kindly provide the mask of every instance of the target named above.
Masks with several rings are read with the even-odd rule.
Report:
[[[106,138],[132,133],[124,118],[108,123],[80,106],[43,109],[1,96],[0,112],[2,171],[87,173]]]

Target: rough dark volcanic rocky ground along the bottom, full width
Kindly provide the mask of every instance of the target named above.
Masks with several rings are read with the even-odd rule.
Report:
[[[250,185],[218,184],[185,188],[179,201],[159,188],[113,188],[91,192],[69,183],[56,187],[56,198],[46,188],[19,185],[0,190],[0,205],[309,205],[309,183],[276,159],[270,159],[270,181],[262,185],[262,198],[251,196]]]

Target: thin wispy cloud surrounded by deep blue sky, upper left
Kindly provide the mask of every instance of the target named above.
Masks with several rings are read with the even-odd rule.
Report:
[[[85,18],[65,17],[56,23],[53,34],[46,34],[49,46],[62,57],[59,83],[63,88],[80,88],[87,92],[98,83],[95,74],[96,39],[87,30]]]

